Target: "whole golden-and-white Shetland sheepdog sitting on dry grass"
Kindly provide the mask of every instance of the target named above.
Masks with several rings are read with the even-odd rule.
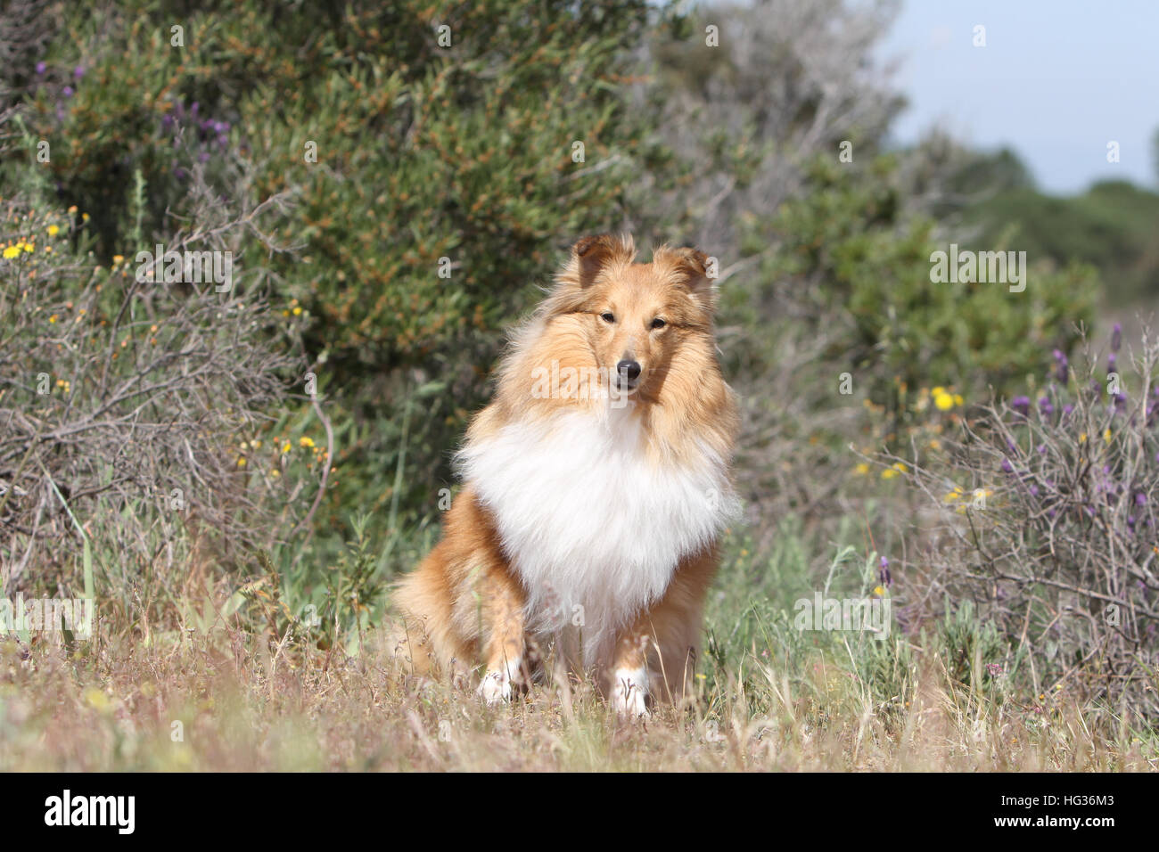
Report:
[[[738,514],[737,403],[709,258],[635,256],[627,235],[573,247],[467,430],[443,539],[396,590],[415,670],[481,664],[488,702],[548,656],[593,673],[625,716],[691,693],[717,542]]]

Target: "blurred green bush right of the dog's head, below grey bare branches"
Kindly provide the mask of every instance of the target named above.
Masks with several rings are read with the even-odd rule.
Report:
[[[940,384],[972,399],[985,398],[987,387],[1009,393],[1045,369],[1044,352],[1069,351],[1076,323],[1091,318],[1093,271],[1054,270],[1030,255],[1025,292],[934,283],[931,255],[954,240],[905,211],[896,174],[891,156],[865,166],[840,163],[836,152],[816,160],[806,191],[772,220],[749,223],[746,249],[774,248],[764,252],[757,286],[728,291],[729,315],[750,325],[779,306],[804,328],[824,325],[834,337],[825,358],[832,387],[837,372],[848,370],[854,393],[897,418],[906,387]],[[761,347],[775,343],[752,336],[736,357],[759,377],[772,366],[773,350]]]

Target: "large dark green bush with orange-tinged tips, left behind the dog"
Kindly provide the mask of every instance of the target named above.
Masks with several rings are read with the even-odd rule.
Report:
[[[624,92],[654,14],[531,0],[61,6],[29,121],[52,144],[61,201],[92,211],[104,261],[184,227],[195,176],[239,203],[232,163],[250,206],[294,199],[267,213],[293,249],[269,257],[271,298],[344,438],[350,473],[320,514],[341,547],[350,507],[433,514],[503,329],[559,249],[620,223],[647,154]],[[148,188],[136,211],[134,174]],[[245,248],[270,254],[254,236]]]

